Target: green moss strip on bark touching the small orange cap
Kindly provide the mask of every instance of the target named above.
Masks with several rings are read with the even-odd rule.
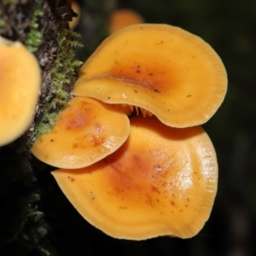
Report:
[[[81,61],[75,60],[74,48],[82,47],[75,40],[79,34],[69,29],[61,29],[59,51],[55,60],[55,66],[51,68],[51,87],[49,90],[49,102],[44,111],[44,116],[36,126],[35,136],[51,130],[55,124],[58,113],[65,108],[71,98],[71,90],[76,79],[77,69],[82,65]],[[74,38],[74,39],[73,39]]]

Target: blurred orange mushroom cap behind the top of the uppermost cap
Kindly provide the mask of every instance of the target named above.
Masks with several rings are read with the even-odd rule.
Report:
[[[132,9],[116,9],[109,15],[108,31],[113,33],[125,26],[143,22],[143,17]]]

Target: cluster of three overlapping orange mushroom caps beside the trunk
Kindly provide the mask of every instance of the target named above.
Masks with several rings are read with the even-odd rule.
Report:
[[[32,154],[59,168],[52,174],[67,199],[109,236],[189,238],[209,218],[218,184],[200,125],[226,90],[224,65],[201,38],[127,26],[81,67],[73,98]]]

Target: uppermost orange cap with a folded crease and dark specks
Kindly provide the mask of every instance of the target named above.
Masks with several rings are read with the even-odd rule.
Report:
[[[201,125],[224,100],[227,74],[216,52],[176,26],[140,24],[110,35],[81,67],[75,96],[128,104],[172,127]]]

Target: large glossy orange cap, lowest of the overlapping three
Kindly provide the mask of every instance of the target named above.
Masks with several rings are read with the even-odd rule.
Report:
[[[176,129],[137,116],[116,152],[93,166],[52,174],[73,207],[109,236],[189,238],[212,211],[218,164],[201,126]]]

